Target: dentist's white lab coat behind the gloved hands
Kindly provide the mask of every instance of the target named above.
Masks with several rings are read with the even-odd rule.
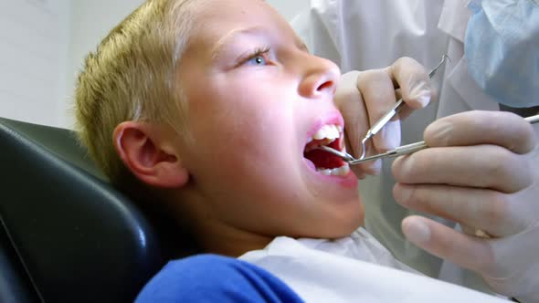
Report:
[[[436,118],[465,110],[499,110],[499,105],[482,93],[466,70],[463,41],[470,18],[468,2],[311,0],[310,11],[293,18],[291,25],[314,54],[332,59],[343,72],[384,68],[404,56],[430,69],[443,54],[449,55],[451,62],[433,78],[439,102],[403,122],[402,141],[410,143],[421,141],[423,131]],[[413,212],[395,203],[390,164],[384,162],[379,176],[360,182],[366,228],[399,260],[428,276],[488,291],[481,277],[442,262],[405,240],[400,223]],[[439,222],[453,225],[441,219]]]

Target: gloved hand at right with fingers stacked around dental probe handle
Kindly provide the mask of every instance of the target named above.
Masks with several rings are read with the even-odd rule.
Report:
[[[464,232],[410,216],[407,239],[478,272],[502,295],[539,302],[539,152],[530,123],[469,111],[433,122],[424,137],[431,148],[393,163],[396,202]]]

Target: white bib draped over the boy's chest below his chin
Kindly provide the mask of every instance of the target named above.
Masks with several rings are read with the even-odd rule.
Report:
[[[363,228],[338,240],[280,236],[239,259],[270,271],[306,302],[502,302],[417,274]]]

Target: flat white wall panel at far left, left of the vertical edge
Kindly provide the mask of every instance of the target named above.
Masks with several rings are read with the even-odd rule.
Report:
[[[0,116],[58,126],[69,0],[0,0]]]

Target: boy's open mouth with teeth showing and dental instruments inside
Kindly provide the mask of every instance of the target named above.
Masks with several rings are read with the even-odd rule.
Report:
[[[334,124],[323,125],[305,146],[303,157],[314,164],[316,172],[333,176],[347,175],[350,172],[348,163],[331,152],[318,149],[322,145],[343,151],[343,128]]]

